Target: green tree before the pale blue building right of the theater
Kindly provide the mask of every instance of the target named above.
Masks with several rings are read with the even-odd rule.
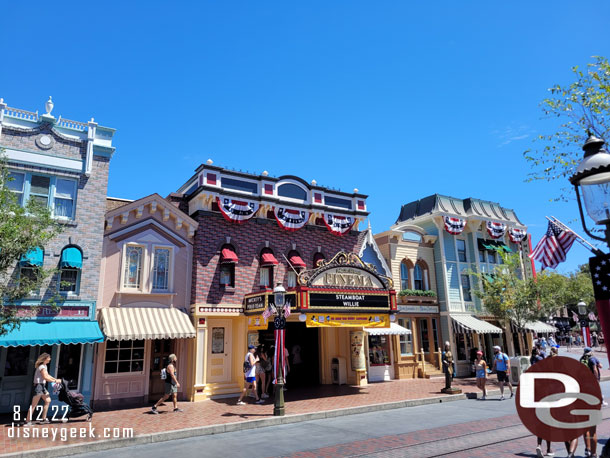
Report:
[[[512,320],[523,328],[527,322],[544,314],[538,302],[538,285],[533,278],[521,278],[518,253],[498,253],[503,264],[497,265],[493,272],[471,272],[480,284],[474,288],[474,294],[483,301],[487,312],[498,320]]]

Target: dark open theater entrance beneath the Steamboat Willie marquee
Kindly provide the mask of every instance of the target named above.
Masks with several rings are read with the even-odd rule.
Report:
[[[273,324],[269,330],[259,331],[259,343],[270,349],[274,346]],[[290,371],[287,387],[317,386],[320,384],[320,345],[318,328],[305,323],[286,323],[286,349]]]

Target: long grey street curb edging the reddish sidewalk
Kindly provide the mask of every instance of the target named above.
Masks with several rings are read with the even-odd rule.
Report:
[[[601,382],[610,381],[610,376],[603,376]],[[487,390],[488,396],[499,395],[500,390]],[[429,404],[440,404],[443,402],[461,401],[464,399],[475,399],[480,396],[477,392],[462,394],[451,394],[435,396],[431,398],[411,399],[406,401],[387,402],[383,404],[371,404],[367,406],[348,407],[345,409],[327,410],[323,412],[311,412],[297,415],[286,415],[284,417],[262,418],[259,420],[248,420],[235,423],[225,423],[221,425],[198,426],[195,428],[178,429],[174,431],[163,431],[152,434],[142,434],[128,439],[110,439],[85,442],[81,444],[63,445],[49,447],[40,450],[28,450],[26,452],[16,452],[0,454],[2,457],[19,458],[53,458],[81,453],[100,452],[122,447],[132,447],[134,445],[154,444],[177,439],[188,439],[190,437],[209,436],[212,434],[222,434],[235,431],[245,431],[248,429],[262,428],[266,426],[287,425],[304,421],[322,420],[325,418],[337,418],[347,415],[357,415],[361,413],[380,412],[383,410],[402,409],[405,407],[416,407]]]

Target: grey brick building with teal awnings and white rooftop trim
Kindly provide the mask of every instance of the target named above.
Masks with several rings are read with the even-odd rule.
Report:
[[[40,291],[15,304],[27,311],[59,294],[59,308],[42,306],[20,329],[0,337],[0,412],[29,404],[34,361],[52,356],[51,375],[71,381],[71,388],[91,396],[93,348],[103,336],[95,321],[104,230],[108,166],[114,129],[93,118],[83,123],[51,112],[9,108],[0,99],[0,150],[13,177],[9,188],[22,204],[36,199],[62,225],[47,246],[24,254],[16,280],[39,266],[58,273]]]

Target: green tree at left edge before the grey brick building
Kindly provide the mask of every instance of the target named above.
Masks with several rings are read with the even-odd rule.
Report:
[[[10,190],[12,181],[0,150],[0,336],[19,327],[19,316],[11,305],[39,290],[55,272],[38,268],[31,276],[19,277],[21,256],[33,248],[44,247],[62,230],[49,210],[34,200],[22,207]],[[45,302],[54,305],[55,298],[56,295],[51,295]]]

